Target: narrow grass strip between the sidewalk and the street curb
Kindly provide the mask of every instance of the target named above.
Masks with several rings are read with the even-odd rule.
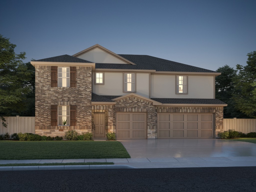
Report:
[[[0,164],[3,166],[51,166],[51,165],[114,165],[113,162],[87,162],[87,163],[8,163]]]

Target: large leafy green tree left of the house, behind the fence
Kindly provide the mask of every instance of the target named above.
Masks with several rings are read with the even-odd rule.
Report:
[[[25,52],[15,54],[16,45],[0,34],[0,116],[20,113],[26,108],[26,95],[30,88],[26,86],[31,71],[23,63]]]

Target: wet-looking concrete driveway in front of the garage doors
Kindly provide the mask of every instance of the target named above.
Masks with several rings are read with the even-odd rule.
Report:
[[[256,144],[221,139],[134,139],[120,141],[131,158],[147,157],[248,157]]]

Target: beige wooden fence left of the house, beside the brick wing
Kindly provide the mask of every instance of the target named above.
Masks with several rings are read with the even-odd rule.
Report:
[[[13,133],[34,133],[35,134],[35,117],[4,117],[7,127],[4,127],[0,120],[0,134],[6,132]]]

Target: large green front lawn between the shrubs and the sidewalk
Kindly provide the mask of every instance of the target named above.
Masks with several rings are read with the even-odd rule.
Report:
[[[119,141],[0,141],[0,159],[130,158]]]

